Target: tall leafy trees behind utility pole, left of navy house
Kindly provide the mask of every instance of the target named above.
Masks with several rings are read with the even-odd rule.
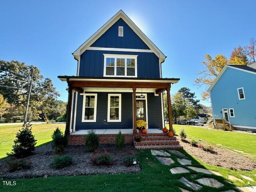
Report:
[[[67,103],[57,100],[60,94],[52,80],[44,78],[36,66],[14,60],[0,60],[0,120],[24,120],[32,68],[28,121],[65,121]]]

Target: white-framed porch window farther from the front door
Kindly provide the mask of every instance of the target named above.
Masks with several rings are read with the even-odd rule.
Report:
[[[81,94],[83,98],[82,122],[96,122],[97,94]]]

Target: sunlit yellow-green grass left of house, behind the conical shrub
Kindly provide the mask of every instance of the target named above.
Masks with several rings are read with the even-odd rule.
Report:
[[[37,143],[36,146],[44,144],[52,140],[51,135],[56,127],[63,131],[66,124],[35,124],[32,125],[32,133],[34,134]],[[6,157],[7,152],[11,152],[12,145],[18,130],[21,125],[0,126],[0,159]]]

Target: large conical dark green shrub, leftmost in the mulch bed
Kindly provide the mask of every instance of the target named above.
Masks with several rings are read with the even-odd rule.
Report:
[[[17,158],[26,157],[32,154],[35,150],[36,140],[31,131],[31,124],[25,123],[19,132],[16,134],[14,146],[12,146],[12,153],[7,155],[14,155]]]

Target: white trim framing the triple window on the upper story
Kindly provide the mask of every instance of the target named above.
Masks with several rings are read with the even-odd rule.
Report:
[[[137,57],[138,55],[119,55],[119,54],[103,54],[104,55],[104,77],[137,77]],[[114,66],[114,75],[106,75],[106,61],[107,58],[114,58],[115,59],[115,66]],[[125,75],[116,75],[116,59],[117,58],[124,58],[124,74]],[[134,76],[128,76],[127,74],[127,59],[134,59],[135,60],[135,74]]]

